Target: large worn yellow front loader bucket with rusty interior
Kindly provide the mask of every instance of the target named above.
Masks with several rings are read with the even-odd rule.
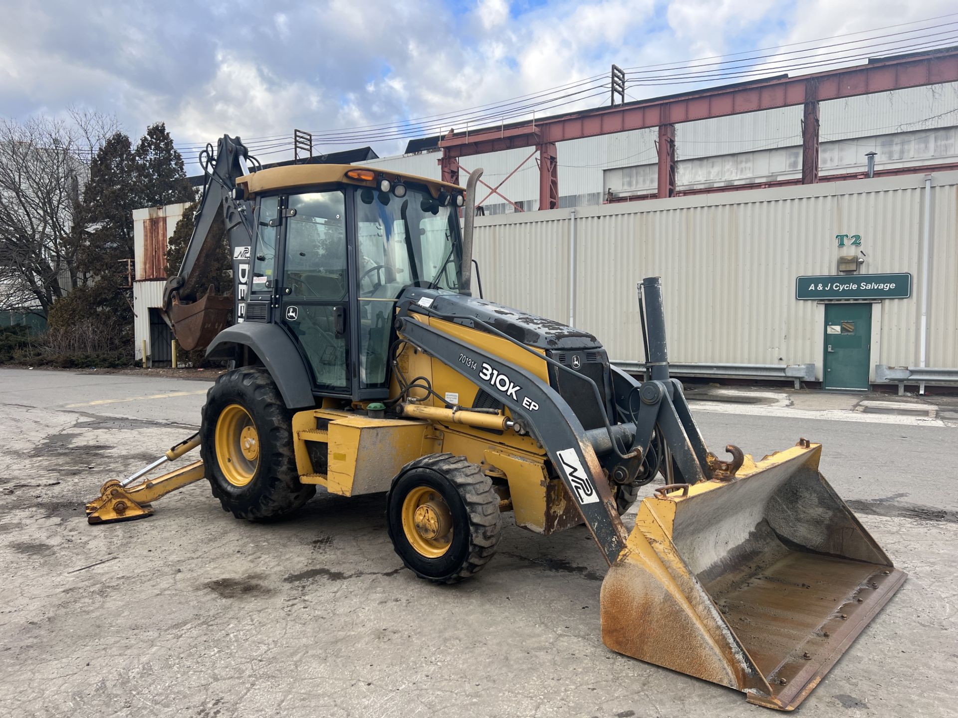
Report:
[[[782,710],[810,693],[901,587],[799,445],[730,481],[647,498],[602,586],[605,645]]]

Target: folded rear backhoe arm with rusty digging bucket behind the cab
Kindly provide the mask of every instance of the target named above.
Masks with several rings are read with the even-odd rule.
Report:
[[[167,280],[163,288],[163,316],[183,348],[201,348],[227,323],[229,310],[237,321],[242,321],[245,303],[245,285],[249,273],[249,253],[252,246],[253,218],[249,203],[237,191],[237,180],[246,174],[246,161],[251,160],[246,147],[239,140],[223,135],[217,143],[200,153],[200,163],[206,171],[206,184],[194,219],[193,235],[187,244],[179,271]],[[220,211],[222,212],[220,215]],[[194,269],[204,265],[203,259],[216,248],[209,241],[217,216],[222,216],[233,257],[232,302],[229,297],[206,297],[197,301],[197,293],[206,287],[197,286]],[[243,289],[239,289],[239,284]],[[207,292],[210,294],[210,292]],[[243,306],[240,306],[243,305]]]

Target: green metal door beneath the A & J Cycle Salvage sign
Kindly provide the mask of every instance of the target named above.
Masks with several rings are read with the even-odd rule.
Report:
[[[868,389],[871,304],[825,305],[825,389]]]

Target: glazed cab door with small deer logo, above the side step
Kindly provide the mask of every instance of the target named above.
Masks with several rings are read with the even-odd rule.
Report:
[[[317,391],[350,394],[350,259],[342,191],[289,195],[278,321],[296,337]]]

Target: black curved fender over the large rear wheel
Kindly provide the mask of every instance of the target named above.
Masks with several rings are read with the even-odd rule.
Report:
[[[210,359],[235,359],[239,347],[253,350],[283,395],[287,409],[309,409],[316,405],[312,380],[299,349],[277,325],[243,322],[219,332],[206,356]]]

